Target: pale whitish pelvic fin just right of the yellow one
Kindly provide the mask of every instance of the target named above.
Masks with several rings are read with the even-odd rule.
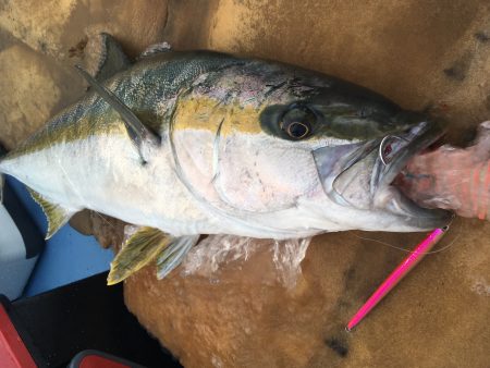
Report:
[[[177,267],[198,240],[199,235],[181,236],[163,249],[157,260],[157,278],[163,279]]]

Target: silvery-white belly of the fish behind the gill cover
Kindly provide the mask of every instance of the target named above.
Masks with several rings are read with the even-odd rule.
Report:
[[[168,146],[150,155],[142,164],[127,136],[98,135],[7,159],[0,171],[72,212],[88,208],[173,235],[213,232],[175,176]]]

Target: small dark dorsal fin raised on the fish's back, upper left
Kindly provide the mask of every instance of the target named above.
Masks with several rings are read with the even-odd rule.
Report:
[[[131,66],[130,59],[114,37],[101,33],[97,41],[100,44],[98,47],[100,56],[94,74],[97,81],[106,81]]]

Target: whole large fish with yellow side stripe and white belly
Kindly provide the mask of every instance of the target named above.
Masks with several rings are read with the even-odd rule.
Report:
[[[199,234],[285,240],[448,223],[450,212],[390,185],[441,135],[427,116],[282,63],[157,47],[130,65],[103,40],[112,61],[102,77],[82,71],[90,90],[0,172],[28,186],[48,236],[85,208],[143,226],[110,283],[156,257],[166,275]],[[120,71],[110,76],[107,64]]]

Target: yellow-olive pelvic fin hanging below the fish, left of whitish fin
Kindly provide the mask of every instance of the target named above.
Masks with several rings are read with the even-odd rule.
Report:
[[[132,273],[154,260],[167,248],[174,237],[154,228],[140,228],[124,243],[122,249],[111,262],[107,279],[108,285],[125,280]]]

